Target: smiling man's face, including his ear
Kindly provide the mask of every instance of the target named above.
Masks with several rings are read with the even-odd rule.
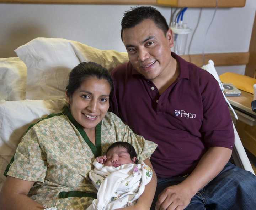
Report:
[[[123,30],[123,43],[132,66],[146,79],[164,78],[171,67],[172,31],[166,34],[151,19]]]

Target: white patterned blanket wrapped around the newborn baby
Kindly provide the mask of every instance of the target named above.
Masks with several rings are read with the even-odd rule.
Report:
[[[89,172],[89,177],[98,193],[87,210],[112,210],[134,205],[152,177],[151,168],[143,161],[117,168],[104,166],[96,160],[93,164],[95,168]]]

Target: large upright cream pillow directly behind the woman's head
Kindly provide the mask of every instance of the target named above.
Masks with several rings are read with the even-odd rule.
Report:
[[[125,52],[57,38],[36,38],[15,52],[28,69],[26,99],[64,98],[68,74],[80,62],[91,61],[112,70],[129,60]]]

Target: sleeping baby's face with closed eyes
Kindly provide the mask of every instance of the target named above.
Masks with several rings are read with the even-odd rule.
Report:
[[[127,152],[126,148],[123,147],[114,147],[106,154],[107,160],[104,166],[113,166],[118,167],[124,164],[135,163],[136,157],[133,157],[133,160],[130,158],[130,154]]]

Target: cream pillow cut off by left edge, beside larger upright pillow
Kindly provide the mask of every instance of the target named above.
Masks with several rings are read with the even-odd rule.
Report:
[[[25,99],[27,67],[20,58],[0,58],[0,100]]]

